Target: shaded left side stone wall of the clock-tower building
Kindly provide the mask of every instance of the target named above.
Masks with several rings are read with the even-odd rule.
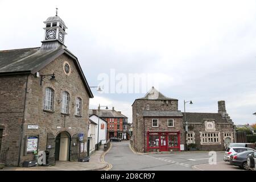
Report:
[[[0,77],[1,152],[8,150],[7,165],[18,164],[26,82],[26,75]]]

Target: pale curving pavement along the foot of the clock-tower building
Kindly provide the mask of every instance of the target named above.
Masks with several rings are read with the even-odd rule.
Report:
[[[110,150],[110,148],[109,148]],[[108,151],[109,151],[108,150]],[[108,152],[106,151],[106,152]],[[89,162],[67,162],[56,161],[54,166],[35,166],[35,167],[5,167],[0,171],[97,171],[109,168],[108,163],[104,161],[106,154],[104,145],[99,150],[90,155]]]

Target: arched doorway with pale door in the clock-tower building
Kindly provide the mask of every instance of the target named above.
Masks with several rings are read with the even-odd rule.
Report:
[[[69,160],[71,135],[66,131],[59,133],[55,142],[55,160]]]

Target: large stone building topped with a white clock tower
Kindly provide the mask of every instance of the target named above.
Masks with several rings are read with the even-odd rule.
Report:
[[[0,149],[7,166],[46,150],[49,163],[87,156],[93,94],[64,45],[63,20],[56,15],[44,23],[41,47],[0,51]]]

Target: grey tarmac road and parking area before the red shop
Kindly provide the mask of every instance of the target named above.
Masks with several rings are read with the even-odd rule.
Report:
[[[129,141],[112,142],[104,160],[112,165],[108,170],[129,171],[233,171],[241,169],[223,161],[224,151],[217,151],[214,164],[209,151],[138,153]]]

